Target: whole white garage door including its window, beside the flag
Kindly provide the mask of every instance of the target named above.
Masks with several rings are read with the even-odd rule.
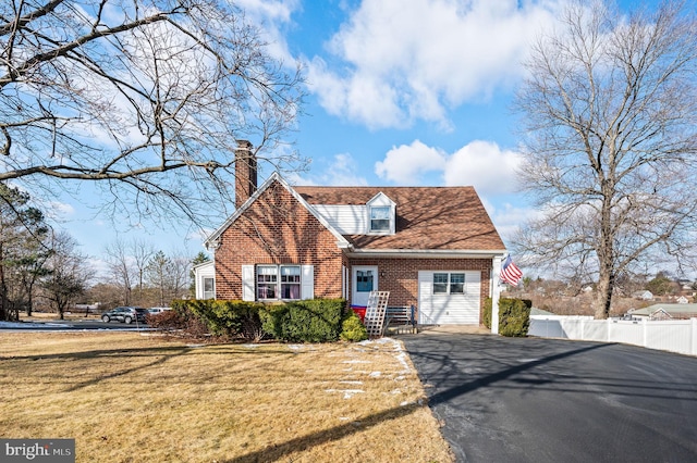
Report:
[[[479,272],[420,271],[418,323],[479,325]]]

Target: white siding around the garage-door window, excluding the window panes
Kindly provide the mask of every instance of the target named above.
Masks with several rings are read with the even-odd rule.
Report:
[[[456,270],[450,272],[463,273]],[[418,323],[479,325],[480,272],[464,272],[464,295],[433,295],[433,273],[432,271],[418,273]],[[444,273],[444,271],[436,273]]]

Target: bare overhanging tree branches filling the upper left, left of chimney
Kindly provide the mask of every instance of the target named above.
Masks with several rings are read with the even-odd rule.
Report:
[[[282,138],[302,84],[232,2],[5,0],[0,182],[37,196],[88,180],[112,216],[217,223],[237,139],[299,165]]]

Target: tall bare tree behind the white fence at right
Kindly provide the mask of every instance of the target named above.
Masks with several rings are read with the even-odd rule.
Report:
[[[697,23],[680,3],[622,15],[573,2],[527,61],[522,187],[541,207],[515,247],[528,262],[597,281],[692,256],[697,225]],[[643,272],[644,273],[644,272]]]

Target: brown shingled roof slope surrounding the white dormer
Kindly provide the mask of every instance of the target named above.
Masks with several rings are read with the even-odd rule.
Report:
[[[394,235],[346,235],[356,248],[503,250],[473,187],[294,187],[310,204],[365,204],[382,191],[396,203]]]

